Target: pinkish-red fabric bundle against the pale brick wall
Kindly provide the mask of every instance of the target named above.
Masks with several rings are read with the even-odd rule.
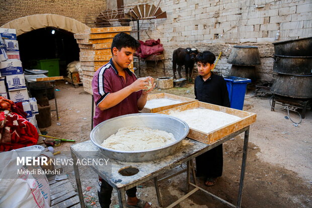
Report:
[[[139,40],[140,46],[137,49],[137,52],[140,53],[141,58],[146,58],[152,54],[162,54],[164,51],[163,44],[161,44],[161,40],[146,40],[145,42]]]

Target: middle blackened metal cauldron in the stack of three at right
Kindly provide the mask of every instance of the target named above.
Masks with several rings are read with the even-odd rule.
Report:
[[[312,72],[312,56],[274,54],[273,72],[284,75],[309,75]]]

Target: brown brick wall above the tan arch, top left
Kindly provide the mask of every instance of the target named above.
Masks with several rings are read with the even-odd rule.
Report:
[[[106,9],[106,0],[0,0],[0,26],[17,18],[55,14],[94,27],[95,16]]]

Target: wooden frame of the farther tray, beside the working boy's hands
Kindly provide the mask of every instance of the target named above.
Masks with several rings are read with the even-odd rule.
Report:
[[[158,93],[158,94],[151,94],[151,95],[149,94],[147,96],[147,100],[160,99],[160,98],[168,98],[168,99],[172,99],[172,100],[178,100],[178,101],[181,101],[181,103],[173,104],[173,105],[167,105],[167,106],[161,106],[161,107],[157,107],[157,108],[144,107],[140,112],[141,113],[157,113],[160,111],[164,111],[164,110],[167,110],[170,108],[175,108],[175,107],[178,107],[180,105],[185,105],[185,104],[197,101],[195,99],[186,98],[186,97],[182,97],[182,96],[178,96],[178,95],[172,95],[172,94],[168,94],[168,93]]]

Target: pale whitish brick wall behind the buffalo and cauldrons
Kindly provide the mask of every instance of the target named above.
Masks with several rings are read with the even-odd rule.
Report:
[[[152,2],[124,1],[125,5]],[[167,19],[152,20],[149,29],[140,33],[140,39],[161,39],[169,75],[172,53],[178,47],[211,50],[216,56],[222,51],[215,71],[226,75],[231,66],[226,60],[232,46],[243,44],[259,47],[262,64],[257,67],[258,73],[261,79],[270,81],[272,42],[278,30],[277,41],[312,36],[310,0],[163,0],[160,7],[167,12]],[[137,37],[136,33],[132,35]]]

